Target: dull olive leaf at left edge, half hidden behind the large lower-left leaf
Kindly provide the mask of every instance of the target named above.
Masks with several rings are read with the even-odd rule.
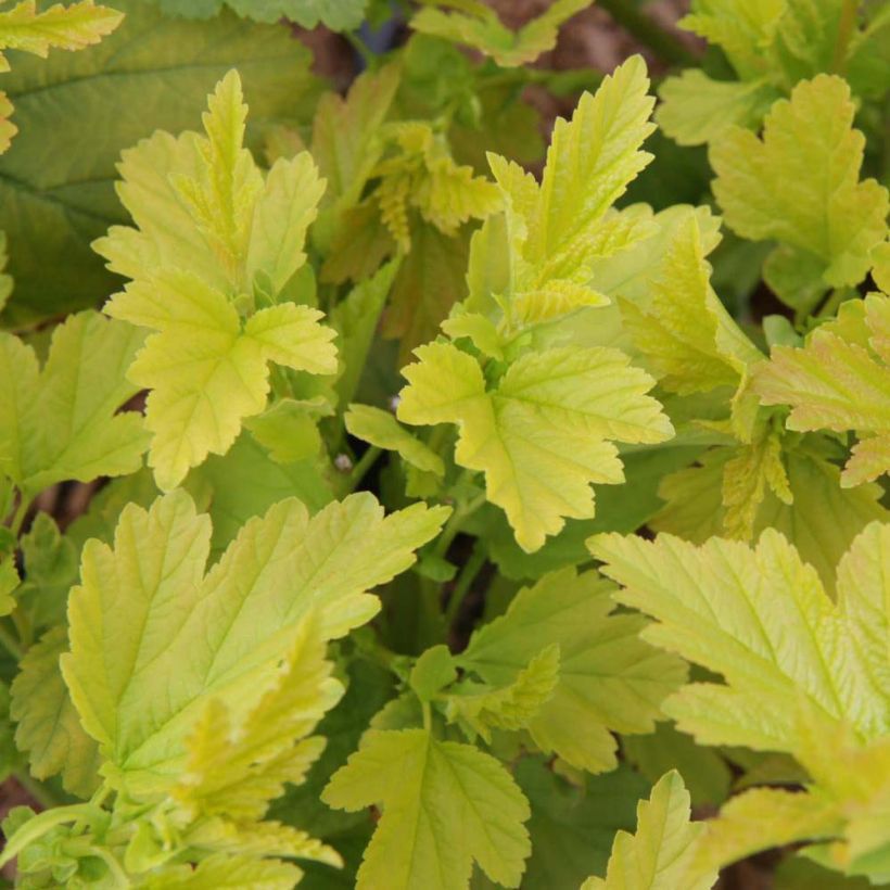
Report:
[[[68,635],[55,627],[31,646],[10,689],[10,713],[18,726],[15,743],[28,752],[30,773],[46,779],[62,774],[65,790],[88,798],[97,788],[99,750],[80,725],[59,670]]]

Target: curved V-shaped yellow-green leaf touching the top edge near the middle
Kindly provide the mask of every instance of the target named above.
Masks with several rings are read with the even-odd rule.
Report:
[[[537,18],[527,22],[518,31],[511,31],[500,24],[497,13],[484,3],[437,0],[435,5],[453,9],[444,12],[427,7],[411,20],[411,27],[420,34],[466,43],[491,55],[498,65],[513,67],[534,62],[541,53],[552,49],[560,25],[589,7],[590,2],[556,0]]]

